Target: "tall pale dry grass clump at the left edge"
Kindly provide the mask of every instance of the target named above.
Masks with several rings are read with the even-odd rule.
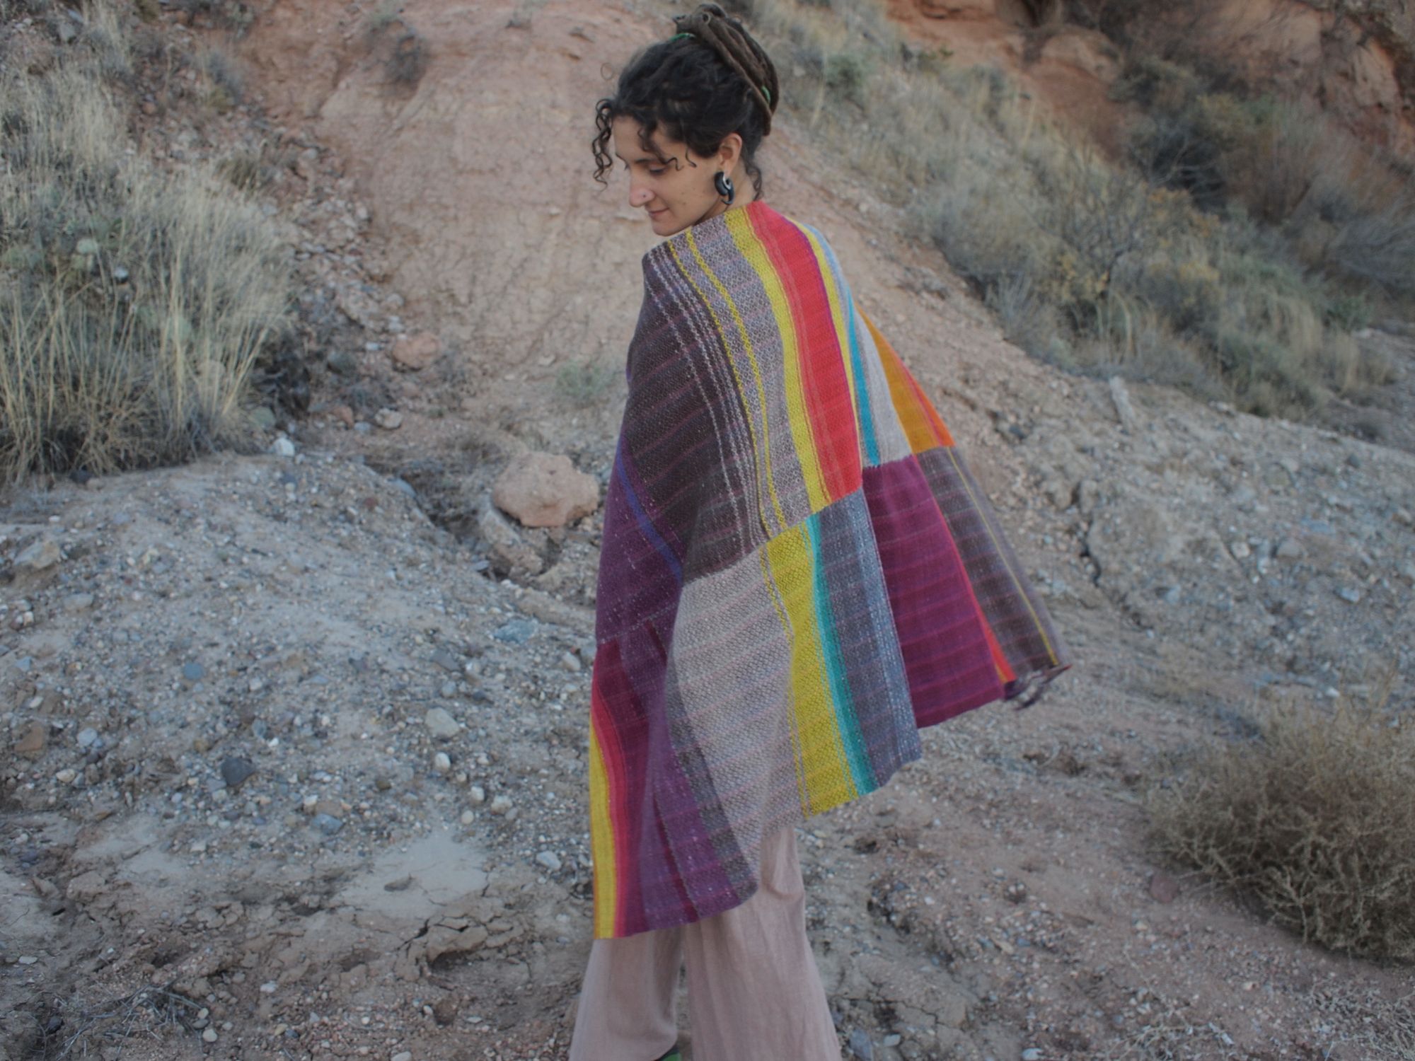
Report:
[[[241,444],[284,327],[275,228],[214,168],[130,154],[108,65],[0,78],[0,481]]]

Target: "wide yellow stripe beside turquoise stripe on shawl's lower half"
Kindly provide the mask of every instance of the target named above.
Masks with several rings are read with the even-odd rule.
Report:
[[[791,645],[791,710],[799,740],[797,779],[801,809],[815,813],[856,795],[835,705],[821,654],[815,614],[811,546],[799,525],[777,535],[763,549],[763,574],[780,600],[777,617]]]

